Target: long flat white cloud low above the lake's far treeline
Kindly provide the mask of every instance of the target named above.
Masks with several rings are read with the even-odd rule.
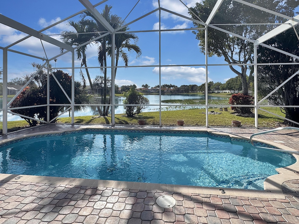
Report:
[[[155,74],[159,74],[159,67],[155,67],[152,71]],[[161,78],[166,80],[187,79],[194,84],[202,84],[205,82],[205,68],[161,67]]]

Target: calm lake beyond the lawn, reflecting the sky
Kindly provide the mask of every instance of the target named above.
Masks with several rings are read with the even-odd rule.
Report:
[[[142,112],[151,112],[151,111],[159,111],[159,95],[144,95],[147,99],[149,99],[149,104],[156,104],[157,106],[148,106],[146,109],[142,110]],[[123,104],[123,100],[125,98],[123,96],[115,96],[115,104]],[[205,99],[204,95],[193,95],[193,94],[176,94],[176,95],[161,95],[161,100],[170,100],[170,99]],[[228,99],[225,97],[219,97],[219,96],[208,96],[208,99],[215,99],[215,100],[222,100],[222,99]],[[8,99],[9,101],[10,99]],[[2,102],[3,99],[0,98],[0,108],[2,109]],[[162,105],[165,105],[162,110],[177,110],[177,108],[173,107],[170,108],[170,105],[173,105],[171,103],[162,103]],[[125,113],[123,106],[115,106],[115,114],[119,113]],[[95,108],[85,108],[83,111],[75,111],[75,116],[90,116],[90,115],[97,115],[97,110]],[[69,113],[66,112],[61,117],[68,117]],[[8,121],[19,121],[23,120],[20,116],[12,115],[8,113],[7,115]],[[2,111],[0,112],[0,121],[2,121]]]

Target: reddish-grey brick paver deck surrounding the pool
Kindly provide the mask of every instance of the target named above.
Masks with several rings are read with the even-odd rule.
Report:
[[[112,128],[50,124],[0,136],[0,141],[86,127]],[[161,129],[148,126],[113,128]],[[263,131],[255,128],[163,128],[208,130],[246,138]],[[283,134],[258,137],[269,142],[283,141],[283,145],[299,151],[296,131],[285,130]],[[279,186],[281,193],[225,188],[225,194],[219,188],[0,174],[0,223],[296,224],[299,223],[299,177],[296,170],[289,172],[292,175],[277,174],[279,179],[293,178]],[[173,196],[177,200],[176,206],[159,207],[155,200],[161,195]]]

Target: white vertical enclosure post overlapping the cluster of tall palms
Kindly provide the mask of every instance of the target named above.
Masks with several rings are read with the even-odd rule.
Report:
[[[112,33],[112,65],[111,65],[111,125],[115,125],[115,33]]]

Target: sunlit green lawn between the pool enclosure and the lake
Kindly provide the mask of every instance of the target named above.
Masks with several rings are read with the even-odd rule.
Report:
[[[280,116],[284,116],[280,112],[279,108],[265,108],[266,110],[276,113]],[[209,111],[217,111],[216,108],[209,109]],[[224,126],[230,127],[232,120],[239,120],[242,123],[242,127],[254,127],[254,117],[242,117],[233,113],[230,108],[228,111],[221,111],[221,114],[210,114],[209,126]],[[161,121],[162,125],[177,125],[178,119],[184,119],[184,125],[190,126],[205,126],[205,109],[189,109],[189,110],[177,110],[177,111],[162,111]],[[136,117],[126,117],[124,114],[115,115],[115,123],[119,125],[138,125],[138,119],[146,119],[146,125],[159,125],[159,112],[144,112]],[[75,117],[75,123],[79,124],[110,124],[111,117],[97,117],[97,116],[80,116]],[[280,119],[270,113],[259,111],[259,127],[273,128],[277,123],[282,123],[283,119]],[[64,117],[57,120],[57,123],[71,123],[70,117]],[[11,131],[16,131],[22,128],[29,127],[28,123],[23,121],[9,121],[7,122],[7,128]],[[2,122],[0,123],[2,129]]]

